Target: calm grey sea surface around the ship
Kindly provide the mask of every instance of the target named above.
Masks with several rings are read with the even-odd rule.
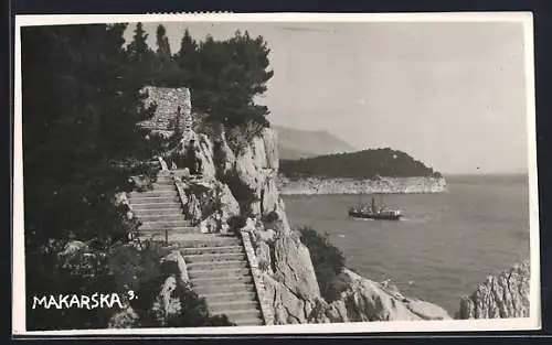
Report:
[[[447,181],[448,193],[384,195],[386,205],[405,214],[401,222],[349,218],[355,195],[284,200],[291,226],[328,233],[349,268],[375,281],[391,279],[403,294],[454,315],[478,282],[529,258],[529,187],[527,176]]]

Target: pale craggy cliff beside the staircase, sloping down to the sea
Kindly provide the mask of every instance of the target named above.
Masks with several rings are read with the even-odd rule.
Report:
[[[202,161],[201,182],[185,180],[184,212],[202,224],[205,233],[237,229],[250,234],[262,271],[264,291],[259,294],[269,301],[275,324],[449,319],[439,306],[404,298],[349,270],[344,272],[349,285],[340,299],[325,301],[309,250],[286,218],[278,187],[275,131],[265,128],[237,152],[230,149],[222,128],[209,137],[190,136],[168,158],[174,162],[169,165],[180,171],[188,145],[194,144]],[[232,222],[236,218],[243,223],[237,228]]]

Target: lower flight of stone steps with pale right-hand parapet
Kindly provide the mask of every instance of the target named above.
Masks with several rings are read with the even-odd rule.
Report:
[[[192,289],[211,314],[225,314],[238,326],[263,325],[253,276],[238,237],[215,234],[178,241]]]

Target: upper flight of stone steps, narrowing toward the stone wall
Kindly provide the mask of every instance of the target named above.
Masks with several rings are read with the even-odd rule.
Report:
[[[152,190],[129,193],[129,202],[136,217],[142,223],[138,228],[139,237],[164,237],[166,231],[169,236],[200,233],[184,218],[177,187],[167,171],[158,174]]]

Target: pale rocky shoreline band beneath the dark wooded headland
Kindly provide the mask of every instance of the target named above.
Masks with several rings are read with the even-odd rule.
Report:
[[[381,177],[378,180],[352,179],[295,179],[278,177],[283,195],[317,194],[414,194],[447,191],[444,177]]]

